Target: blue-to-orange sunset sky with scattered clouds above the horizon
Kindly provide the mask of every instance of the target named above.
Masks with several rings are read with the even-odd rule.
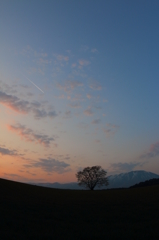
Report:
[[[0,1],[0,177],[159,174],[159,1]]]

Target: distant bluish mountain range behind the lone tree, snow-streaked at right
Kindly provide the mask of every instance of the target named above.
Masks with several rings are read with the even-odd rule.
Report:
[[[110,188],[128,188],[130,186],[133,186],[137,183],[144,182],[146,180],[150,180],[153,178],[159,178],[159,175],[151,172],[146,171],[132,171],[128,173],[120,173],[116,175],[110,175],[108,176],[109,185],[108,187],[105,187],[104,189],[110,189]],[[71,183],[34,183],[34,185],[43,186],[43,187],[50,187],[50,188],[59,188],[59,189],[84,189],[76,182]],[[98,188],[96,188],[98,189]],[[102,188],[103,189],[103,188]]]

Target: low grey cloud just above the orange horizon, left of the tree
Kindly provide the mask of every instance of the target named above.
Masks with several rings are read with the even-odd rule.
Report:
[[[70,171],[69,166],[70,164],[54,158],[40,158],[38,161],[30,161],[29,164],[24,165],[26,168],[41,168],[47,173],[57,172],[59,174]]]

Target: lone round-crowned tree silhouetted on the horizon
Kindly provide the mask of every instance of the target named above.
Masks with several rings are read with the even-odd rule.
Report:
[[[76,173],[79,186],[84,186],[87,189],[94,190],[96,186],[107,186],[107,172],[101,166],[86,167],[83,171]]]

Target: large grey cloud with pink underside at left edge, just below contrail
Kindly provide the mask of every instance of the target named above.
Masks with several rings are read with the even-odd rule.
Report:
[[[37,101],[29,102],[14,95],[8,95],[3,91],[0,91],[0,103],[20,114],[32,112],[36,119],[57,116],[54,110],[46,111],[42,104]]]

